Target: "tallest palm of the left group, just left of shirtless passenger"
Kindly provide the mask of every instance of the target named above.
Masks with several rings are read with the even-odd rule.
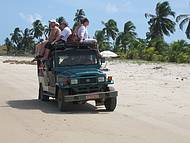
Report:
[[[44,33],[44,26],[42,22],[40,20],[36,20],[32,23],[32,26],[32,33],[34,35],[34,38],[40,40]]]

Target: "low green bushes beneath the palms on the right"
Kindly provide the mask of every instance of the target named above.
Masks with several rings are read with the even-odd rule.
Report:
[[[143,48],[140,48],[141,45],[133,45],[133,47],[127,49],[126,53],[121,51],[119,55],[123,59],[190,63],[190,45],[185,41],[175,41],[170,45],[157,44],[157,48],[154,44],[150,47],[146,47],[147,45],[145,45]],[[158,47],[160,47],[159,50]]]

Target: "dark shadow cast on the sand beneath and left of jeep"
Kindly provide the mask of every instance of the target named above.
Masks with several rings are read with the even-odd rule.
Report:
[[[98,114],[106,113],[104,109],[97,109],[97,107],[86,103],[83,105],[68,104],[66,105],[65,112],[60,112],[55,100],[42,102],[37,99],[32,100],[10,100],[7,104],[16,109],[21,110],[41,110],[44,113],[50,114]]]

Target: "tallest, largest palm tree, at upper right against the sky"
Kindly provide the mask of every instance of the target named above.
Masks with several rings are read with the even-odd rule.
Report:
[[[147,39],[163,38],[164,35],[170,36],[170,33],[173,34],[175,32],[175,22],[170,19],[170,16],[175,17],[175,12],[172,11],[169,2],[158,3],[155,11],[155,15],[145,14],[145,17],[149,18],[148,24],[150,26]]]

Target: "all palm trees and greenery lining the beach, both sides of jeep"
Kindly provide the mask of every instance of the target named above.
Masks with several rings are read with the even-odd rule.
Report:
[[[73,29],[85,16],[83,9],[76,11]],[[145,14],[149,25],[146,39],[138,38],[132,21],[126,21],[123,31],[119,31],[117,22],[113,19],[102,22],[103,28],[95,32],[94,38],[97,39],[101,51],[112,50],[118,53],[121,59],[189,63],[190,45],[186,41],[178,40],[169,44],[164,39],[165,36],[175,33],[177,24],[181,30],[187,25],[185,34],[190,39],[190,14],[175,16],[176,13],[169,2],[160,2],[156,5],[155,14]],[[60,23],[64,17],[56,20]],[[43,25],[40,20],[34,21],[32,29],[26,28],[22,31],[17,27],[10,34],[10,38],[6,38],[3,52],[8,55],[33,54],[35,45],[42,38],[47,38],[48,33],[49,27]]]

